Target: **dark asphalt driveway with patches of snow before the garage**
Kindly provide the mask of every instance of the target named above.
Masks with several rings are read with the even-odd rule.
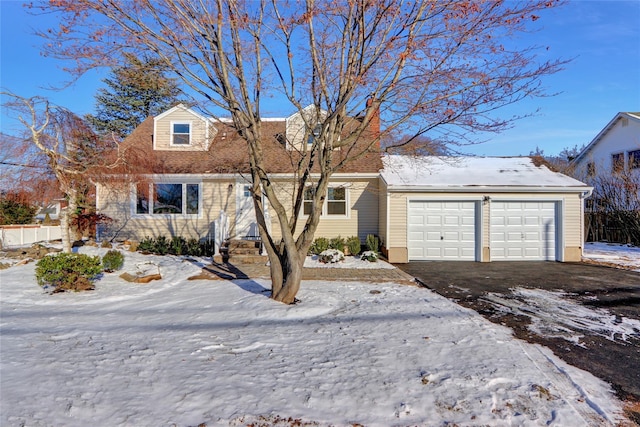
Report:
[[[518,338],[547,346],[567,363],[609,382],[621,399],[640,401],[640,273],[558,262],[425,261],[397,267],[437,293],[510,327]],[[613,329],[627,324],[629,333],[596,333],[581,319],[562,324],[567,328],[564,337],[532,328],[541,319],[554,323],[564,313],[562,307],[554,312],[551,306],[558,306],[552,302],[547,303],[547,317],[538,316],[546,308],[531,305],[527,295],[560,295],[557,291],[565,293],[560,305],[567,301],[579,309],[589,307],[605,319],[608,310]]]

